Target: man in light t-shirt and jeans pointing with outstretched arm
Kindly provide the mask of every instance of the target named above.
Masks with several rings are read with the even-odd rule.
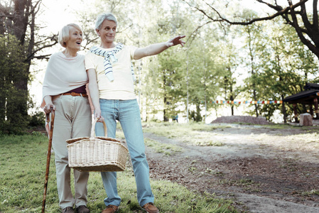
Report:
[[[93,47],[85,55],[94,117],[102,116],[105,119],[107,136],[113,138],[115,138],[117,120],[120,122],[134,168],[139,204],[146,212],[159,212],[153,204],[154,196],[149,180],[139,105],[134,94],[135,77],[131,60],[156,55],[173,45],[183,45],[185,42],[180,39],[185,35],[146,48],[114,43],[117,18],[112,13],[99,15],[95,30],[101,39],[101,44],[99,47]],[[95,133],[97,136],[104,136],[102,124],[97,124]],[[117,194],[117,173],[103,172],[102,181],[107,192],[107,198],[104,200],[107,208],[102,213],[117,212],[121,202]]]

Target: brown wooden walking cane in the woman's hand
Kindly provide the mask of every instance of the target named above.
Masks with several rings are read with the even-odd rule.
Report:
[[[51,122],[50,122],[50,114],[46,114],[46,121],[50,122],[50,131],[49,131],[48,156],[46,158],[45,182],[44,182],[44,192],[43,192],[43,200],[42,200],[42,213],[45,212],[45,199],[46,199],[46,190],[48,187],[48,179],[49,179],[54,116],[55,116],[55,113],[53,111],[53,108],[51,107]]]

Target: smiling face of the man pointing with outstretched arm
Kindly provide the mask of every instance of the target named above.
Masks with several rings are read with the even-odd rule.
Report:
[[[117,34],[117,24],[107,19],[102,22],[101,28],[97,29],[97,35],[104,44],[113,43],[115,34]]]

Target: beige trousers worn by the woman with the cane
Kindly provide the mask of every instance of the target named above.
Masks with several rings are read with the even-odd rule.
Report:
[[[53,97],[55,120],[53,128],[53,151],[59,194],[59,205],[79,207],[87,204],[87,180],[89,173],[73,170],[75,197],[71,191],[70,167],[68,166],[67,143],[70,138],[90,136],[92,115],[89,100],[85,97],[60,95]]]

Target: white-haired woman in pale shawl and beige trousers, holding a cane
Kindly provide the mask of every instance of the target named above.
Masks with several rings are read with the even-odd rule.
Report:
[[[82,43],[82,30],[74,23],[64,26],[59,34],[59,43],[65,48],[51,55],[43,82],[45,113],[55,111],[53,150],[59,194],[63,212],[90,212],[87,209],[87,180],[89,173],[74,170],[75,197],[70,186],[67,143],[70,138],[90,136],[91,109],[87,99],[85,56],[77,54]]]

